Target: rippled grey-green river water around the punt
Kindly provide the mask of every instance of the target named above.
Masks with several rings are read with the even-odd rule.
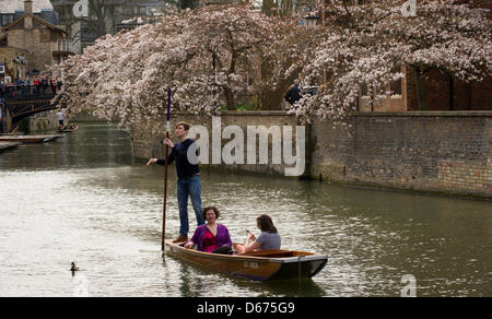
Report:
[[[329,257],[313,280],[262,283],[160,252],[163,168],[144,164],[104,123],[0,153],[0,296],[400,296],[406,275],[417,296],[492,296],[489,201],[202,172],[202,202],[233,240],[267,213],[283,248]]]

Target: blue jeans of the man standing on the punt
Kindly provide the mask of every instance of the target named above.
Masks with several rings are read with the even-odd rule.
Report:
[[[204,220],[201,214],[200,176],[194,176],[191,178],[178,178],[177,181],[179,221],[181,223],[181,226],[179,227],[179,235],[181,236],[188,236],[189,232],[188,196],[191,198],[191,204],[194,205],[195,214],[197,215],[197,224],[204,224]]]

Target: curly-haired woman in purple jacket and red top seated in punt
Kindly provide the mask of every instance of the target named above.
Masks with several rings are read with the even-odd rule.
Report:
[[[214,252],[215,249],[221,249],[225,245],[232,247],[227,227],[216,223],[220,215],[216,208],[204,208],[203,218],[207,223],[197,227],[194,237],[185,245],[185,248],[190,249],[197,245],[197,249],[200,251]]]

